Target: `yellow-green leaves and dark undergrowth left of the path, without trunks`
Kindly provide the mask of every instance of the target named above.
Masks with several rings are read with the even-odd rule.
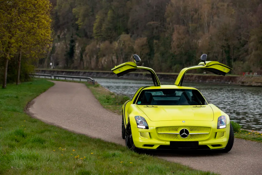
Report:
[[[21,80],[28,80],[32,70],[30,65],[49,51],[51,3],[46,0],[10,0],[0,4],[0,75],[5,88],[6,82],[17,79],[14,78],[17,72],[20,72]],[[20,61],[22,71],[18,66]]]

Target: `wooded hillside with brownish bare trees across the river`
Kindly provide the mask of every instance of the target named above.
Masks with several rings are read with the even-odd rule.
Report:
[[[261,0],[50,0],[53,47],[37,67],[110,70],[138,54],[179,72],[206,53],[233,74],[262,69]]]

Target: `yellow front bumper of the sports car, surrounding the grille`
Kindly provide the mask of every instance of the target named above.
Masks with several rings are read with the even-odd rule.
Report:
[[[150,122],[152,126],[152,122]],[[165,126],[180,126],[182,128],[187,128],[189,126],[199,126],[199,127],[211,127],[210,133],[207,138],[199,139],[199,140],[185,140],[185,141],[198,141],[199,148],[198,149],[223,149],[226,147],[229,138],[229,128],[230,124],[227,123],[227,127],[223,129],[217,129],[217,124],[214,121],[160,121],[154,122],[154,127],[150,127],[149,129],[140,129],[137,127],[131,126],[133,142],[137,148],[141,149],[172,149],[170,147],[170,141],[184,141],[181,140],[165,140],[161,139],[158,136],[157,127],[165,127]],[[147,139],[141,137],[140,132],[144,132],[147,136]],[[216,138],[217,133],[225,132],[224,137]],[[195,149],[195,148],[194,148]]]

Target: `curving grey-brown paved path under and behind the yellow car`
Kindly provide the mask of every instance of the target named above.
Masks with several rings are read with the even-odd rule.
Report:
[[[104,109],[82,83],[58,82],[34,99],[29,111],[62,128],[124,145],[122,116]],[[262,143],[235,139],[229,153],[203,151],[157,152],[168,161],[220,174],[262,175]]]

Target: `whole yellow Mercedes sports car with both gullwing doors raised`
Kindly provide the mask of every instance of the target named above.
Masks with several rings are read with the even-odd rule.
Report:
[[[192,69],[203,69],[225,75],[232,68],[217,61],[206,61],[182,69],[175,85],[161,85],[153,69],[135,62],[115,66],[117,76],[142,69],[152,75],[154,86],[140,87],[122,107],[122,138],[129,149],[211,149],[228,152],[234,143],[234,131],[228,115],[208,104],[193,87],[182,86],[184,75]],[[215,92],[214,92],[215,93]]]

